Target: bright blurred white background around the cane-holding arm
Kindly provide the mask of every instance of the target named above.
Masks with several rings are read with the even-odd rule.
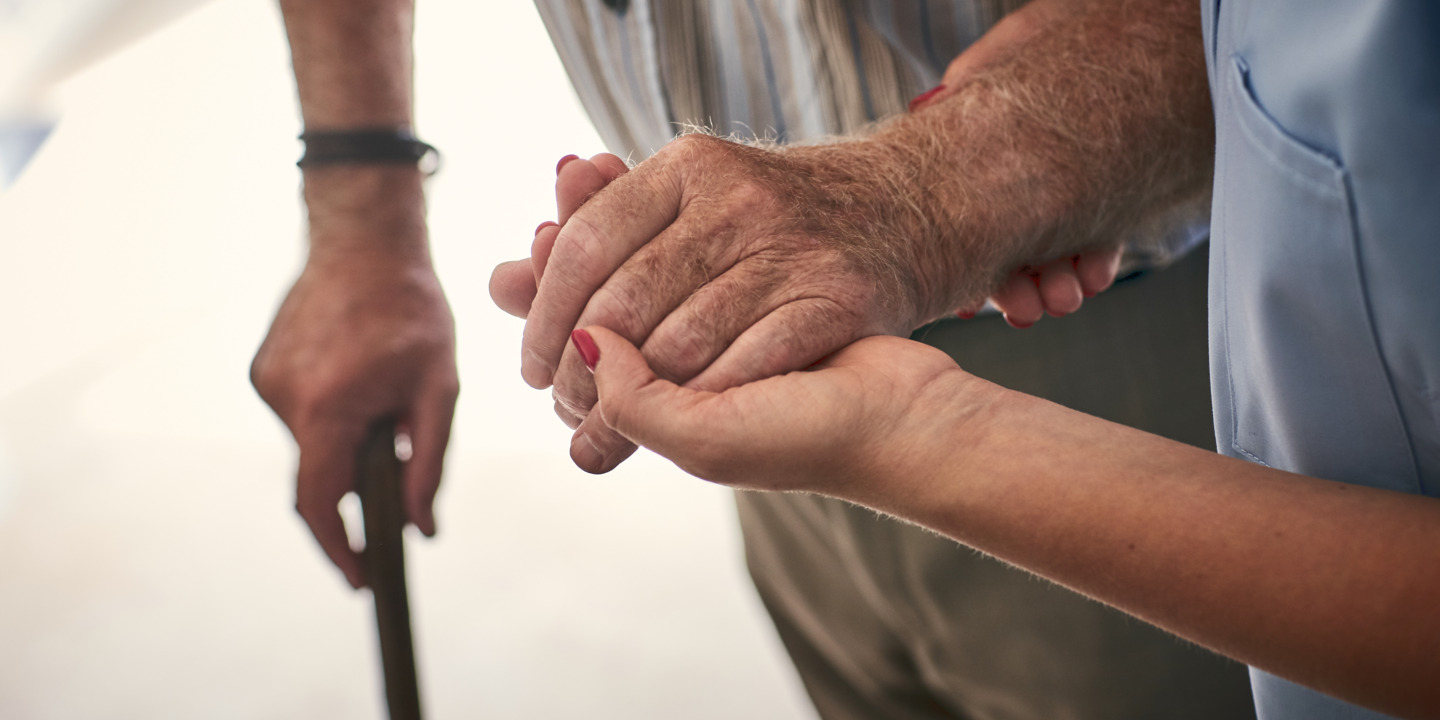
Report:
[[[490,268],[602,150],[530,3],[422,0],[418,128],[465,386],[410,543],[428,716],[811,717],[730,497],[566,458]],[[304,256],[278,13],[215,0],[63,84],[0,194],[0,719],[382,717],[366,595],[291,511],[246,382]]]

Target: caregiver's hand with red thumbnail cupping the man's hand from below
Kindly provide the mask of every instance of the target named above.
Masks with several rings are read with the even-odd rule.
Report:
[[[704,480],[886,504],[919,481],[923,448],[953,448],[966,418],[1004,393],[949,356],[867,337],[816,366],[714,393],[657,377],[624,337],[575,333],[595,363],[605,423]]]

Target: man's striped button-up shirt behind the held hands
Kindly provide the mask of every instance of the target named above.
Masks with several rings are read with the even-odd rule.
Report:
[[[536,0],[600,138],[639,161],[700,127],[804,143],[904,112],[1027,0]],[[615,7],[621,10],[616,10]],[[1165,265],[1210,236],[1205,217],[1125,266]]]

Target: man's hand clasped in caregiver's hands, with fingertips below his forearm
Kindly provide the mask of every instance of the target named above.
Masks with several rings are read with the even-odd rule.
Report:
[[[495,268],[491,295],[527,320],[521,374],[553,386],[576,465],[606,472],[639,442],[708,480],[798,490],[783,480],[798,468],[773,471],[878,451],[876,431],[904,425],[894,410],[958,372],[884,336],[971,315],[982,297],[946,295],[946,268],[927,266],[930,220],[837,160],[854,156],[706,135],[632,171],[611,154],[562,160],[559,222],[537,229],[528,259]],[[1027,327],[1077,310],[1117,264],[1107,248],[1021,268],[991,302]],[[595,376],[570,343],[588,327],[606,328],[586,334],[602,350]]]

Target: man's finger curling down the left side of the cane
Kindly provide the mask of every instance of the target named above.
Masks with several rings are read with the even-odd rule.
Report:
[[[337,505],[354,488],[354,455],[359,445],[359,435],[350,433],[301,442],[295,485],[295,510],[310,526],[330,562],[340,567],[356,589],[364,586],[364,572],[360,554],[350,549],[350,537]]]

